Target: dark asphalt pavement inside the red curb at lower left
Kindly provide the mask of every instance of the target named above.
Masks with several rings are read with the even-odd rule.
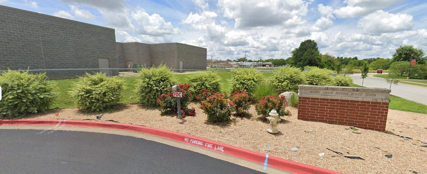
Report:
[[[1,174],[255,174],[146,139],[106,133],[0,129]]]

